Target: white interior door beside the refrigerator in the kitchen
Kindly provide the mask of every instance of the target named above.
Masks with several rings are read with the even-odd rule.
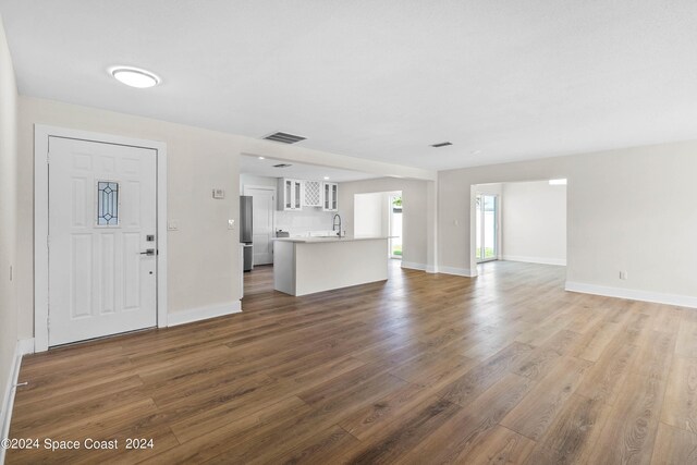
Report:
[[[252,196],[254,265],[272,264],[276,191],[273,188],[245,187],[244,195]]]

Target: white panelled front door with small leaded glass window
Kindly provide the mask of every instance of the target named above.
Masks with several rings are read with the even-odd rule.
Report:
[[[156,157],[49,137],[50,346],[156,326]]]

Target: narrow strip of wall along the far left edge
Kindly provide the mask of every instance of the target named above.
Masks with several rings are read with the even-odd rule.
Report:
[[[0,419],[5,418],[5,395],[17,343],[16,278],[16,103],[14,68],[0,17]],[[29,197],[30,199],[32,197]],[[2,433],[0,421],[0,435]],[[3,454],[0,452],[0,462]]]

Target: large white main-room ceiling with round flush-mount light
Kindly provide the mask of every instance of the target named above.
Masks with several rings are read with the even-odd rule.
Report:
[[[389,163],[697,138],[695,0],[0,0],[0,14],[21,94]],[[114,64],[162,83],[125,87]]]

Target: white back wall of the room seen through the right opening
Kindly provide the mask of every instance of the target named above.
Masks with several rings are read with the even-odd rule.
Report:
[[[566,265],[566,186],[502,184],[504,260]]]

